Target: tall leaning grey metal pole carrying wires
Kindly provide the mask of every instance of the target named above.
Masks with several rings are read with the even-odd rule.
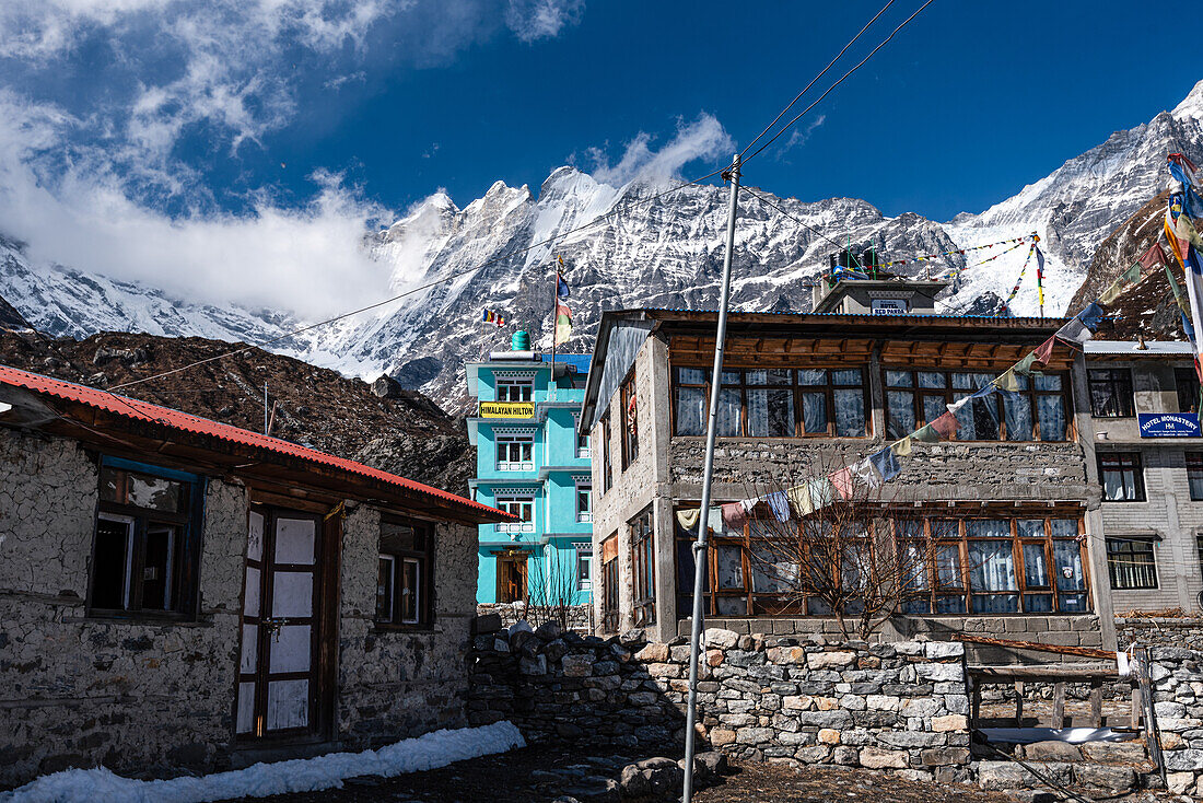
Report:
[[[698,721],[698,657],[701,653],[703,579],[706,572],[706,525],[710,520],[710,484],[715,473],[715,433],[718,430],[718,389],[723,384],[723,341],[727,338],[727,300],[731,294],[731,253],[735,249],[735,212],[740,197],[740,154],[724,177],[731,181],[727,213],[727,253],[723,255],[723,287],[718,295],[718,331],[715,333],[715,372],[710,378],[710,415],[706,423],[706,462],[701,474],[701,507],[698,510],[698,541],[693,544],[693,622],[689,634],[689,702],[685,724],[685,789],[682,799],[693,799],[693,755]]]

